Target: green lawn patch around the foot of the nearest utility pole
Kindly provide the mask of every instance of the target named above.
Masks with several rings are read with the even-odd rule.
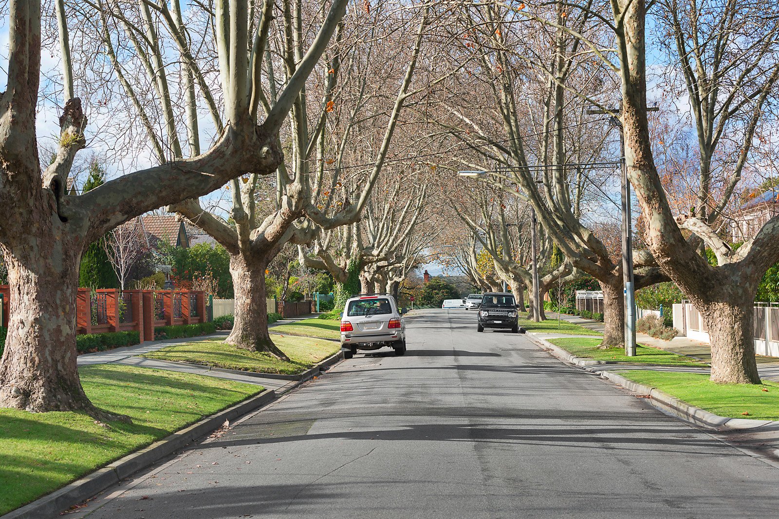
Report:
[[[559,346],[577,357],[589,357],[599,361],[631,362],[634,364],[659,364],[659,365],[685,365],[698,368],[707,364],[698,362],[693,358],[676,355],[670,351],[664,351],[650,346],[636,346],[636,356],[625,355],[625,348],[600,349],[601,339],[588,339],[586,337],[571,337],[549,339],[549,342]]]

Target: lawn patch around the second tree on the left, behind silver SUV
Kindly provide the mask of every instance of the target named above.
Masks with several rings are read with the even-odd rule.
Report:
[[[297,375],[340,350],[340,343],[314,337],[272,335],[271,338],[273,343],[287,354],[291,362],[266,353],[235,348],[230,344],[224,344],[224,339],[176,344],[142,356],[174,362],[192,362],[216,368]]]

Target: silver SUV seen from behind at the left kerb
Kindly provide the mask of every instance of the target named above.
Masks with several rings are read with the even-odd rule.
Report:
[[[352,358],[358,350],[388,346],[395,355],[406,352],[406,324],[391,295],[356,295],[341,314],[341,351]]]

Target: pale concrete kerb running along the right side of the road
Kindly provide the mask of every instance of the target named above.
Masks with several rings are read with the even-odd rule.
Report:
[[[571,355],[568,351],[552,344],[541,337],[537,337],[534,332],[527,332],[527,337],[538,344],[542,348],[548,349],[552,352],[552,355],[559,358],[563,362],[575,365],[581,369],[591,368],[593,365],[614,365],[615,362],[596,361],[592,358],[580,358]],[[665,411],[678,418],[682,418],[687,422],[691,422],[695,425],[707,427],[709,429],[717,429],[719,431],[723,429],[729,430],[779,430],[779,422],[770,420],[750,420],[749,418],[728,418],[725,416],[715,415],[710,411],[706,411],[701,408],[696,408],[694,405],[688,404],[686,401],[682,401],[679,398],[672,397],[670,394],[664,393],[658,390],[656,387],[645,386],[640,383],[635,383],[633,380],[628,380],[619,373],[606,371],[605,369],[592,370],[587,369],[590,372],[596,372],[601,378],[611,380],[613,383],[626,388],[629,391],[637,394],[640,397],[646,398],[650,404],[655,408]],[[0,518],[2,519],[2,518]]]

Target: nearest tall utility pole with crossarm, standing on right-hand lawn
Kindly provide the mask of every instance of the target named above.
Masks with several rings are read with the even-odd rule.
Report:
[[[650,107],[647,111],[657,111]],[[587,110],[588,115],[608,114],[605,110]],[[622,109],[612,110],[613,114],[621,114]],[[633,218],[630,214],[630,181],[625,158],[625,135],[622,132],[622,121],[619,117],[609,118],[612,126],[619,129],[619,184],[622,195],[622,283],[625,297],[625,355],[636,355],[636,284],[633,278]]]

